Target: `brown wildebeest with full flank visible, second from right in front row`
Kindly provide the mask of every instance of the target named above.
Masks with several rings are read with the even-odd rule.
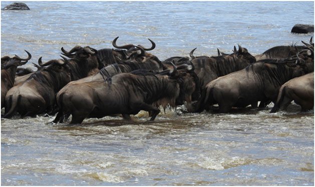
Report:
[[[310,52],[306,52],[309,54]],[[232,106],[257,106],[257,101],[276,101],[280,86],[291,78],[313,71],[309,57],[292,59],[264,59],[246,68],[218,77],[206,85],[197,104],[197,111],[219,104],[219,112],[228,112]],[[307,59],[306,59],[307,58]],[[313,65],[312,65],[313,66]]]

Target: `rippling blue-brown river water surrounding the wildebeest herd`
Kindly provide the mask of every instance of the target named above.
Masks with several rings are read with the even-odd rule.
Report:
[[[4,7],[10,2],[2,1]],[[2,56],[26,55],[32,67],[75,45],[150,45],[171,56],[231,52],[238,43],[258,54],[309,41],[292,34],[313,24],[313,2],[27,1],[31,11],[1,12]],[[35,67],[33,67],[35,69]],[[313,185],[314,114],[234,109],[228,114],[146,112],[51,124],[54,116],[1,120],[2,185]],[[68,121],[69,122],[69,121]]]

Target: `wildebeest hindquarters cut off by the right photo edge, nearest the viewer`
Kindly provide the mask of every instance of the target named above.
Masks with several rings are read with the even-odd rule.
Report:
[[[277,101],[270,113],[284,110],[291,101],[301,106],[301,111],[314,107],[314,72],[295,77],[285,82],[279,90]]]

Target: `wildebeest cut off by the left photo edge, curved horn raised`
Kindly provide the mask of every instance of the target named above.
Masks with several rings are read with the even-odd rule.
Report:
[[[9,57],[4,56],[1,58],[1,108],[5,106],[5,98],[8,90],[13,87],[17,68],[19,65],[24,65],[32,58],[30,52],[25,50],[28,53],[27,58],[20,58],[19,56]]]

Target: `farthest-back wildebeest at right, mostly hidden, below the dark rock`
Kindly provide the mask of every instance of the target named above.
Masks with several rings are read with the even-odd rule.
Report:
[[[269,48],[264,51],[262,54],[255,55],[256,60],[267,59],[267,58],[276,58],[276,59],[286,59],[290,58],[293,55],[296,55],[301,50],[307,49],[308,45],[314,46],[312,42],[312,37],[309,40],[309,44],[302,41],[304,45],[280,45]]]

